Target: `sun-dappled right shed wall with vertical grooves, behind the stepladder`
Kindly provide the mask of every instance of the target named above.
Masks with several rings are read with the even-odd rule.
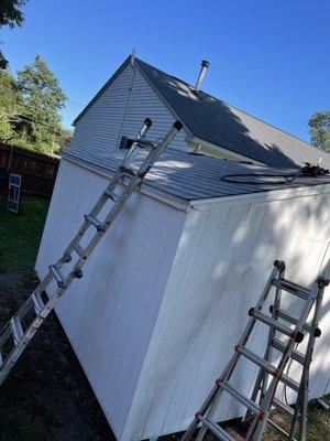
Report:
[[[184,430],[228,362],[275,258],[310,284],[329,259],[329,193],[227,206],[188,216],[146,354],[123,440]],[[327,256],[328,257],[327,257]],[[311,397],[329,390],[330,290],[311,368]],[[290,308],[297,310],[296,302]],[[253,338],[260,353],[264,335]],[[298,376],[293,366],[290,375]],[[251,392],[253,365],[233,383]],[[327,386],[328,385],[328,386]],[[293,398],[292,398],[293,399]],[[241,416],[228,396],[217,419]]]

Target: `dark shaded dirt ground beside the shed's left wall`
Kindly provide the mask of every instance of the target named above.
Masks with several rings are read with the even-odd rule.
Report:
[[[31,294],[36,282],[32,268],[0,275],[1,326]],[[0,440],[114,440],[54,313],[0,389]]]

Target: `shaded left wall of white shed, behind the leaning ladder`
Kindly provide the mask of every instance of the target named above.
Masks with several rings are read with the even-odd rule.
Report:
[[[44,276],[107,179],[62,160],[36,260]],[[56,308],[121,439],[186,213],[135,193]]]

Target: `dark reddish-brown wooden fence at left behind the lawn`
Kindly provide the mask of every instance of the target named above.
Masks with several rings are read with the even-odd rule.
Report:
[[[10,172],[22,174],[23,192],[51,197],[58,164],[58,157],[0,143],[0,172],[7,178]]]

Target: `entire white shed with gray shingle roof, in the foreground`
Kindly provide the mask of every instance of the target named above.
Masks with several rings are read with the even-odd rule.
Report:
[[[101,146],[63,154],[40,277],[121,154]],[[229,359],[273,260],[283,258],[288,278],[310,284],[330,257],[329,175],[287,184],[222,180],[261,170],[272,172],[168,149],[61,300],[57,315],[118,440],[184,430]],[[329,291],[311,397],[330,391]],[[238,381],[249,394],[251,365],[242,369]],[[229,399],[221,409],[219,420],[242,412]]]

